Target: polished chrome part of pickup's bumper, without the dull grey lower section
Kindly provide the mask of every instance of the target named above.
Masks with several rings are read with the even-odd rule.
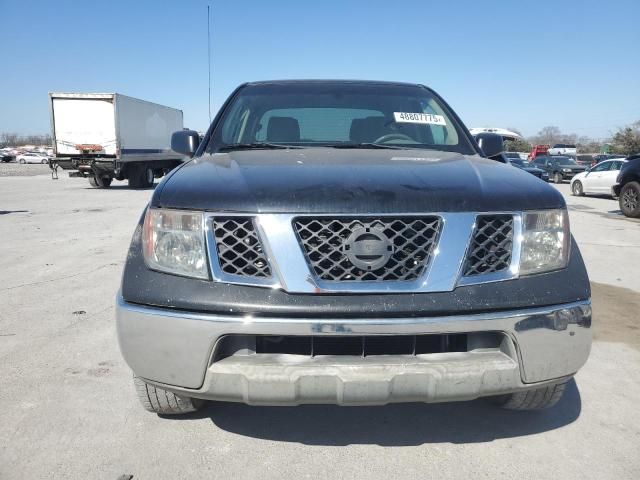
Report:
[[[120,348],[136,375],[176,391],[184,389],[205,398],[218,398],[217,387],[211,379],[215,369],[222,368],[223,364],[212,364],[211,358],[218,339],[229,334],[345,336],[503,332],[511,340],[513,351],[502,353],[516,364],[518,388],[574,374],[586,362],[591,347],[590,301],[468,315],[315,319],[184,312],[129,304],[118,296],[116,320]],[[471,355],[469,360],[480,360],[478,353],[472,351],[465,355]],[[429,358],[425,360],[433,367],[436,357],[426,357]],[[449,359],[445,358],[438,368],[446,370]],[[487,376],[493,375],[490,365],[491,362],[487,363],[484,370]],[[226,366],[235,371],[239,368],[229,362]],[[399,375],[403,372],[402,369],[396,371]],[[426,368],[424,378],[430,378],[433,372],[433,369]],[[360,374],[366,376],[366,369]],[[331,372],[328,375],[332,376]],[[339,372],[334,376],[339,378]],[[375,376],[370,378],[373,380]],[[246,383],[246,379],[242,382]],[[256,388],[258,386],[259,382]],[[490,391],[496,392],[499,387],[493,384]],[[516,388],[513,381],[506,378],[502,387]],[[484,388],[478,391],[479,394],[482,391]],[[402,398],[413,398],[413,393]],[[466,394],[472,395],[473,392]]]

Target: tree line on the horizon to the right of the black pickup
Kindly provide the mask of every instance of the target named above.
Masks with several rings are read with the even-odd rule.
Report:
[[[510,128],[509,130],[520,134],[517,129]],[[563,133],[556,126],[548,126],[542,128],[537,135],[507,141],[506,148],[513,152],[528,152],[533,145],[554,145],[556,143],[575,145],[578,153],[598,153],[605,144],[609,145],[611,153],[621,155],[640,153],[640,120],[618,129],[611,139],[606,141],[597,141],[575,133]]]

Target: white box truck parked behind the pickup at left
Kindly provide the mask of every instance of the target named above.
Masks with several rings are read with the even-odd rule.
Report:
[[[145,188],[178,166],[171,134],[182,111],[119,93],[49,93],[54,142],[52,168],[71,170],[94,187],[116,180]]]

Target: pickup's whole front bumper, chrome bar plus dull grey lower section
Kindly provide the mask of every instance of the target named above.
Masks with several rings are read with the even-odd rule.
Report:
[[[140,306],[118,296],[118,340],[146,381],[185,395],[248,404],[385,404],[468,400],[573,375],[591,348],[589,301],[419,318],[305,319],[213,315]],[[499,332],[499,348],[427,355],[234,355],[225,335],[368,336]]]

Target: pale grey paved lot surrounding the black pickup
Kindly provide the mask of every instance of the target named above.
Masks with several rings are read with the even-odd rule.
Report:
[[[1,479],[640,478],[640,223],[616,202],[568,198],[598,340],[553,410],[215,404],[167,419],[138,405],[113,320],[150,194],[0,178]]]

